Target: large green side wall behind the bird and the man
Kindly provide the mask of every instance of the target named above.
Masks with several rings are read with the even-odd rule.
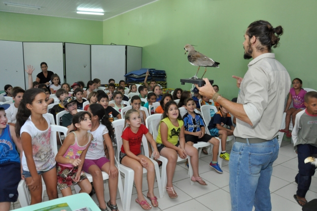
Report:
[[[184,55],[186,44],[220,63],[207,68],[207,76],[231,99],[238,89],[232,75],[243,77],[250,60],[243,59],[243,35],[259,19],[274,27],[283,26],[275,57],[291,78],[303,87],[317,89],[317,1],[315,0],[160,0],[103,21],[103,44],[143,47],[143,67],[166,70],[168,87],[181,85],[180,78],[192,77],[197,67]],[[198,76],[203,74],[200,69]]]

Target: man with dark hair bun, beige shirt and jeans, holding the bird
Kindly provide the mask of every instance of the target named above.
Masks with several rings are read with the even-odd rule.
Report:
[[[236,141],[229,161],[232,211],[272,210],[270,179],[278,155],[277,133],[282,121],[291,79],[272,53],[283,28],[269,22],[251,23],[244,34],[244,59],[253,58],[243,78],[237,79],[239,96],[231,102],[214,91],[208,79],[196,87],[202,96],[218,102],[236,117]]]

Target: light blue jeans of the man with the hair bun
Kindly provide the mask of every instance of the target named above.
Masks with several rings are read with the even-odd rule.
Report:
[[[232,211],[270,211],[272,164],[278,155],[276,138],[250,144],[235,142],[229,161],[229,188]]]

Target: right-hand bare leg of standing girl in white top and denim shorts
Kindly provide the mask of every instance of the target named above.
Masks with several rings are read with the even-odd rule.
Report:
[[[52,168],[51,170],[42,174],[43,180],[46,186],[46,192],[49,200],[57,199],[57,170]]]

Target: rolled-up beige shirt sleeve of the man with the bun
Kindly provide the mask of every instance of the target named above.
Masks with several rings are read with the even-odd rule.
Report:
[[[253,126],[259,123],[268,103],[269,80],[262,69],[250,68],[243,79],[243,109]]]

